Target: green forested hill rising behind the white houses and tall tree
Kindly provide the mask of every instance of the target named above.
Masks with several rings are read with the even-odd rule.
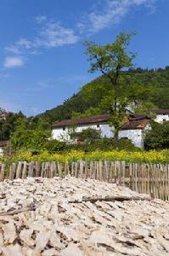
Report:
[[[164,69],[130,69],[121,79],[121,96],[138,102],[152,102],[156,108],[169,108],[169,67]],[[109,80],[104,76],[84,85],[62,105],[37,116],[52,123],[70,119],[78,113],[95,114],[104,112],[104,99],[111,95]]]

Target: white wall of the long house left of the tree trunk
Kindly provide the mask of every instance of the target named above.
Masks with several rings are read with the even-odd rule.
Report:
[[[99,125],[99,127],[97,126]],[[112,128],[108,124],[89,124],[89,125],[78,125],[75,129],[76,132],[81,132],[82,130],[86,130],[87,128],[96,129],[101,132],[101,137],[114,137]],[[65,128],[53,128],[52,138],[57,139],[59,141],[67,141],[70,142],[69,129]],[[64,139],[65,138],[65,139]]]

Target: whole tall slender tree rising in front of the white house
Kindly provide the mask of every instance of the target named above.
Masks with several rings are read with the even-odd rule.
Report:
[[[94,42],[85,42],[87,47],[86,54],[90,61],[90,73],[96,71],[101,72],[104,76],[110,79],[112,84],[112,98],[109,102],[109,110],[111,115],[111,124],[114,125],[115,139],[118,138],[118,131],[121,128],[123,113],[127,105],[127,99],[120,100],[119,87],[121,71],[125,68],[132,67],[132,60],[135,57],[133,53],[127,53],[127,47],[134,33],[121,32],[112,44],[104,46],[95,44]]]

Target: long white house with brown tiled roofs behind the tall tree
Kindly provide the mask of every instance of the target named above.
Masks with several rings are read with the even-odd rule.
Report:
[[[52,138],[59,141],[71,142],[71,131],[81,132],[87,128],[100,131],[101,137],[114,137],[113,128],[109,125],[110,114],[84,117],[80,119],[65,119],[55,122],[52,126]],[[128,138],[139,148],[144,146],[144,130],[147,129],[149,119],[144,115],[130,114],[119,131],[119,138]]]

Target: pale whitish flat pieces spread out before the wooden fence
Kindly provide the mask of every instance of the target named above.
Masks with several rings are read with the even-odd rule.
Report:
[[[0,255],[169,255],[169,203],[90,179],[7,180]]]

